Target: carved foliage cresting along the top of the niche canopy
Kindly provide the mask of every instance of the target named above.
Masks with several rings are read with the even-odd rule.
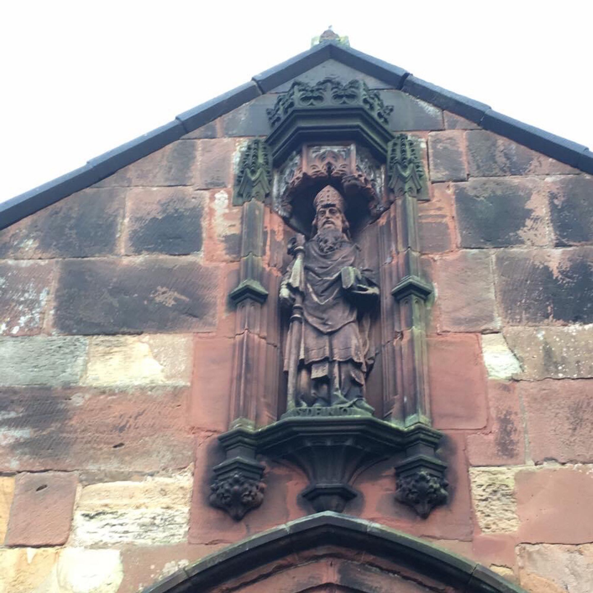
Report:
[[[267,116],[274,128],[294,109],[325,106],[364,107],[385,126],[393,111],[393,106],[385,105],[380,93],[369,89],[364,81],[355,79],[342,84],[336,79],[324,78],[314,84],[293,82],[291,88],[278,97],[275,106],[267,109]]]

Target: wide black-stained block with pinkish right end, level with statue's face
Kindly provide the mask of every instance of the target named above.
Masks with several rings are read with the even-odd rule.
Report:
[[[543,181],[470,179],[454,189],[461,247],[553,244]]]

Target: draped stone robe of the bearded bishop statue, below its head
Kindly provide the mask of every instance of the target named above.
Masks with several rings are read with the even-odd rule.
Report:
[[[307,241],[303,265],[303,323],[291,325],[284,360],[288,371],[291,359],[298,359],[298,404],[368,407],[364,386],[374,356],[368,311],[378,297],[371,270],[364,268],[360,248],[346,237],[329,253],[315,239]],[[283,283],[295,291],[293,266]],[[298,353],[290,351],[293,331],[301,331]]]

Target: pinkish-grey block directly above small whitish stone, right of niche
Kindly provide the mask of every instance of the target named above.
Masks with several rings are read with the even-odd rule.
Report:
[[[436,306],[444,331],[497,329],[494,280],[485,251],[458,251],[436,262]]]

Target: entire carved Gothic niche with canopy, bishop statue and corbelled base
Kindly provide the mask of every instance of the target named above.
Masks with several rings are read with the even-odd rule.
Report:
[[[353,480],[396,455],[394,500],[420,517],[447,502],[428,403],[432,288],[417,234],[428,188],[417,141],[389,129],[392,110],[363,81],[296,81],[268,110],[270,135],[241,154],[231,423],[211,492],[235,519],[262,504],[262,457],[304,471],[301,496],[315,511],[341,512],[358,495]],[[266,205],[302,233],[276,272],[264,266]],[[265,356],[263,320],[266,331],[284,328],[286,344]],[[280,365],[284,383],[258,380],[254,369],[273,377]]]

